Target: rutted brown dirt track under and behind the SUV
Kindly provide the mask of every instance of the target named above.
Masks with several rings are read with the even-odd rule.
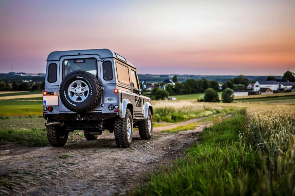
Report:
[[[63,148],[11,148],[11,154],[0,156],[0,179],[12,186],[0,183],[0,195],[124,194],[157,166],[181,156],[208,124],[179,133],[161,130],[201,119],[154,128],[151,140],[141,140],[135,131],[130,148],[117,148],[114,134],[106,132]]]

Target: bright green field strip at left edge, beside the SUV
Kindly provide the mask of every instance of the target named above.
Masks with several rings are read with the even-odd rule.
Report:
[[[0,116],[42,115],[42,102],[0,101]]]

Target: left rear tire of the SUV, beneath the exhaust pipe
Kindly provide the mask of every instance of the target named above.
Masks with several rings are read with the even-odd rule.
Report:
[[[48,119],[47,123],[52,122]],[[67,143],[69,132],[59,125],[47,127],[47,139],[51,146],[62,147]]]

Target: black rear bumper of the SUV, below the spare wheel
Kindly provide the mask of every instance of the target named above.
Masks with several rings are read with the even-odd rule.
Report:
[[[119,116],[119,112],[112,113],[62,113],[62,114],[43,114],[45,119],[50,118],[57,121],[104,121],[116,116]]]

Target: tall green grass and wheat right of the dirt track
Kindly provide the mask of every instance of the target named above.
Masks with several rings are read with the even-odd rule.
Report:
[[[295,195],[295,107],[249,108],[129,195]]]

